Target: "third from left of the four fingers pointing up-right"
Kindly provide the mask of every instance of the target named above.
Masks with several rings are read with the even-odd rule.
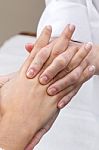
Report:
[[[73,57],[72,61],[68,65],[68,72],[72,71],[74,68],[76,68],[84,59],[85,57],[89,54],[89,52],[92,49],[92,43],[87,43],[81,46],[79,49],[78,53]]]

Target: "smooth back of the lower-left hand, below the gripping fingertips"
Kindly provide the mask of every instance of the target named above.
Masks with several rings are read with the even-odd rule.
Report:
[[[46,29],[40,39],[45,32]],[[46,44],[49,37],[50,34],[46,35]],[[64,90],[57,96],[49,96],[46,92],[48,85],[39,83],[40,74],[31,80],[26,78],[26,71],[34,55],[31,53],[20,71],[1,86],[0,146],[4,149],[25,149],[35,133],[59,112],[57,102],[65,94]],[[48,110],[50,108],[52,112]]]

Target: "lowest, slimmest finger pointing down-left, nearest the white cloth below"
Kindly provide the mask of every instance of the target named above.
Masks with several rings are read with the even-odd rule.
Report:
[[[59,109],[64,108],[71,101],[71,99],[77,94],[80,87],[81,87],[81,85],[78,86],[77,88],[73,89],[69,94],[65,95],[58,103],[58,108]]]

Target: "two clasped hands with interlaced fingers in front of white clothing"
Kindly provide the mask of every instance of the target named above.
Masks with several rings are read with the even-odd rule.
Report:
[[[32,145],[28,145],[27,149],[33,148],[56,119],[59,113],[57,103],[65,99],[64,104],[67,104],[80,88],[82,81],[94,74],[95,70],[91,69],[93,71],[90,72],[88,64],[84,62],[84,58],[91,51],[91,45],[88,49],[85,45],[80,49],[68,47],[73,31],[74,27],[68,25],[57,40],[49,43],[51,29],[45,28],[20,71],[13,78],[3,78],[5,84],[2,84],[0,93],[1,146],[21,150],[33,138]],[[71,62],[78,58],[80,59],[76,66],[68,71]],[[86,76],[81,78],[83,73]],[[48,80],[42,82],[44,74]],[[78,80],[79,84],[76,83]],[[51,94],[51,86],[58,87],[58,90]],[[67,97],[69,99],[66,100]],[[58,107],[61,108],[60,103]],[[4,143],[2,139],[5,136],[8,142],[5,140]]]

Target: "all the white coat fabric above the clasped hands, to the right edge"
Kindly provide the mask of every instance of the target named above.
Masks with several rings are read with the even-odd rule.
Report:
[[[47,0],[46,5],[38,25],[38,35],[45,25],[52,25],[53,36],[58,36],[66,24],[72,23],[76,25],[74,40],[98,42],[98,0]]]

